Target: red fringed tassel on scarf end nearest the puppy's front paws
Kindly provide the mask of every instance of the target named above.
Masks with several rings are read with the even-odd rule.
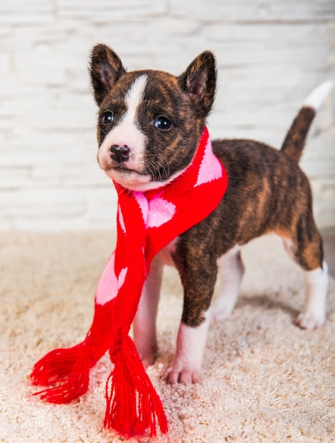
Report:
[[[144,370],[132,339],[126,335],[121,347],[110,351],[114,369],[106,384],[107,408],[104,425],[123,437],[157,435],[168,432],[164,408]],[[110,393],[108,392],[110,391]]]

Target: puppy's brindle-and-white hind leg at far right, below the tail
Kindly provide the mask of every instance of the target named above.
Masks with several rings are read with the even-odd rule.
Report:
[[[322,326],[326,318],[329,278],[328,266],[323,258],[322,237],[314,222],[308,227],[308,231],[297,229],[299,236],[293,236],[292,240],[283,238],[283,241],[286,251],[304,272],[305,305],[295,323],[302,329],[312,330]]]

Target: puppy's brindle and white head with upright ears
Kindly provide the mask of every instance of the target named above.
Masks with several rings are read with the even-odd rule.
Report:
[[[198,55],[176,77],[127,72],[115,52],[96,45],[91,81],[98,113],[98,163],[131,190],[159,188],[191,163],[215,98],[215,57]]]

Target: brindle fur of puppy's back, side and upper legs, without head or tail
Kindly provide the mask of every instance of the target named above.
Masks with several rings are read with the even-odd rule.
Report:
[[[214,140],[227,169],[222,202],[181,234],[174,260],[184,287],[182,321],[198,326],[210,306],[217,258],[236,244],[275,232],[293,242],[293,255],[305,270],[322,267],[322,238],[312,217],[312,193],[305,174],[289,156],[251,140]]]

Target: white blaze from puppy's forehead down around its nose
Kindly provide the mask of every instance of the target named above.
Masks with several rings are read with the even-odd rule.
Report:
[[[146,144],[146,137],[137,126],[137,110],[143,100],[144,89],[147,85],[147,74],[142,74],[132,83],[125,95],[127,110],[120,122],[108,132],[101,144],[98,159],[104,156],[109,158],[109,149],[113,144],[127,145],[130,148],[130,159],[127,168],[140,171],[143,167],[142,159]]]

